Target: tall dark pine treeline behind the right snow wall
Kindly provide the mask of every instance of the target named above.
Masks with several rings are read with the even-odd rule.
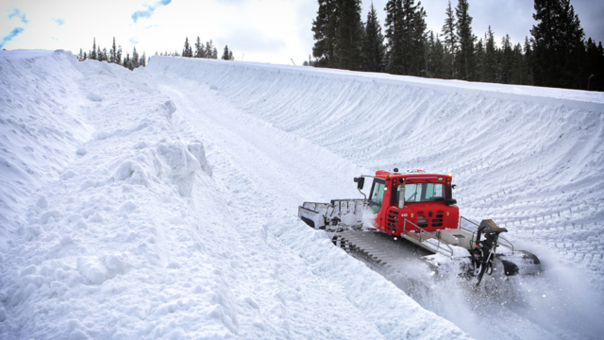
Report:
[[[500,47],[489,27],[472,31],[467,0],[445,8],[440,32],[426,29],[418,1],[389,0],[384,33],[371,4],[361,19],[361,0],[318,0],[312,24],[316,67],[386,72],[442,79],[514,83],[604,91],[602,42],[585,41],[570,0],[535,0],[536,25],[524,44],[506,34]]]

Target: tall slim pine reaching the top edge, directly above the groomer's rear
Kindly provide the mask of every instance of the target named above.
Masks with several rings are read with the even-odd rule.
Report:
[[[474,80],[474,41],[472,34],[472,17],[469,15],[470,5],[467,0],[458,0],[455,7],[457,17],[457,39],[459,40],[459,53],[457,54],[458,79]]]

